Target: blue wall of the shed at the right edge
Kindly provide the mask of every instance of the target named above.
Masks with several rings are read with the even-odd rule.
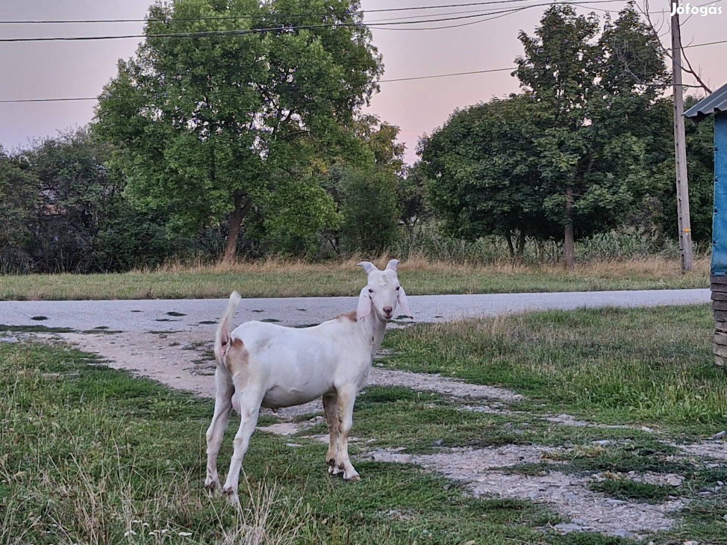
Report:
[[[712,275],[727,275],[727,113],[715,116],[715,213]]]

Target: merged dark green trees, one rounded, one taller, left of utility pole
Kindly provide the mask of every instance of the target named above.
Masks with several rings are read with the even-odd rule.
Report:
[[[601,28],[554,5],[534,36],[520,33],[523,93],[457,110],[419,143],[433,206],[451,235],[574,238],[624,225],[654,190],[649,150],[658,41],[629,4]]]

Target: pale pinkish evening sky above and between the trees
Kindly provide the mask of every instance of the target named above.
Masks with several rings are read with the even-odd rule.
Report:
[[[441,4],[466,4],[470,0],[364,0],[363,8],[421,7]],[[451,7],[415,12],[370,13],[366,21],[392,20],[395,17],[454,17],[451,12],[499,10],[513,6],[542,4],[542,0],[522,0],[515,4]],[[722,0],[715,6],[720,6]],[[663,6],[662,6],[663,4]],[[684,21],[683,43],[697,44],[727,39],[727,2],[722,15],[694,15]],[[149,0],[25,0],[8,2],[0,12],[1,20],[33,19],[118,19],[142,18]],[[598,9],[618,10],[624,1],[578,7],[579,12]],[[640,4],[643,5],[643,4]],[[667,1],[652,2],[651,12],[668,9]],[[531,33],[545,6],[532,7],[496,20],[460,28],[430,31],[374,29],[374,44],[384,57],[382,79],[430,76],[471,70],[507,68],[522,52],[518,31]],[[614,14],[616,15],[616,14]],[[668,14],[667,14],[668,15]],[[654,14],[656,22],[664,14]],[[439,26],[470,20],[430,23]],[[406,25],[411,28],[416,25]],[[423,26],[423,25],[419,25]],[[89,36],[140,33],[142,23],[84,25],[0,25],[2,37]],[[662,27],[663,40],[669,40],[668,20]],[[20,42],[0,43],[0,98],[95,97],[116,73],[116,61],[133,55],[137,40]],[[687,49],[694,68],[712,89],[727,81],[727,44]],[[685,81],[691,83],[691,81]],[[406,159],[416,158],[418,138],[441,126],[455,108],[502,97],[518,91],[518,82],[509,72],[453,76],[414,81],[383,82],[381,92],[371,102],[371,113],[401,128],[406,143]],[[58,130],[82,126],[93,116],[93,102],[41,102],[0,104],[0,144],[12,149],[25,147],[30,140],[54,136]]]

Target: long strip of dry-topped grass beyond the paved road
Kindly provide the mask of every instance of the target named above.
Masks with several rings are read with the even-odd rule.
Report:
[[[377,264],[384,266],[384,260]],[[582,264],[574,273],[556,265],[454,265],[411,260],[399,267],[406,293],[473,294],[614,289],[704,288],[707,261],[681,275],[676,261],[661,258]],[[190,299],[227,297],[353,296],[364,274],[356,260],[306,264],[262,262],[233,267],[172,268],[95,275],[3,275],[1,300]]]

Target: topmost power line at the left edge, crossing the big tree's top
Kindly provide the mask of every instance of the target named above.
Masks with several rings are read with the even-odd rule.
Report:
[[[382,9],[358,9],[354,11],[342,11],[342,12],[318,12],[318,13],[292,13],[292,14],[240,14],[240,15],[221,15],[217,17],[174,17],[174,21],[216,21],[216,20],[240,20],[240,19],[264,19],[265,17],[321,17],[324,15],[355,15],[355,14],[366,14],[366,13],[382,13],[382,12],[405,12],[419,9],[443,9],[449,7],[470,7],[470,6],[485,6],[491,4],[512,4],[513,2],[522,2],[526,0],[489,0],[480,2],[467,2],[465,4],[440,4],[437,6],[414,6],[414,7],[392,7]],[[608,1],[623,1],[623,0],[608,0]],[[567,3],[567,2],[566,2]],[[592,2],[586,2],[590,4]],[[20,20],[20,21],[0,21],[3,25],[40,25],[40,24],[53,24],[53,23],[145,23],[147,21],[159,21],[166,22],[169,19],[166,18],[146,18],[146,19],[78,19],[78,20]]]

